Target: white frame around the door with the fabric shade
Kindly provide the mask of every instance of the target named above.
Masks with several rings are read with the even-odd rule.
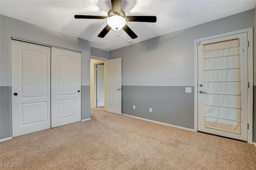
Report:
[[[248,81],[250,83],[248,88],[248,115],[247,123],[249,128],[247,130],[247,142],[252,144],[252,127],[253,127],[253,28],[246,28],[234,32],[219,34],[206,38],[194,40],[194,131],[198,130],[198,49],[201,41],[221,38],[225,36],[232,36],[234,34],[247,33],[249,42],[248,47]]]

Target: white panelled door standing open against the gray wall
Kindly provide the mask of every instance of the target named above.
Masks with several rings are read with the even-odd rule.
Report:
[[[122,58],[106,61],[106,111],[122,114]]]

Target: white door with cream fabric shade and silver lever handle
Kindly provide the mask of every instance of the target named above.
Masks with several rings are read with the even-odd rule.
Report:
[[[198,45],[198,131],[247,141],[247,33]]]

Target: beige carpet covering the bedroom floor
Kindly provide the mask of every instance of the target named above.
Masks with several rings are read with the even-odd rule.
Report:
[[[91,116],[90,121],[1,142],[0,162],[22,163],[18,169],[28,170],[256,169],[252,144],[103,109],[93,109]]]

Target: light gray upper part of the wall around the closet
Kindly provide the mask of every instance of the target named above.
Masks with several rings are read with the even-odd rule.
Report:
[[[0,25],[0,86],[11,86],[11,37],[82,52],[82,85],[90,86],[90,42],[3,15]]]

